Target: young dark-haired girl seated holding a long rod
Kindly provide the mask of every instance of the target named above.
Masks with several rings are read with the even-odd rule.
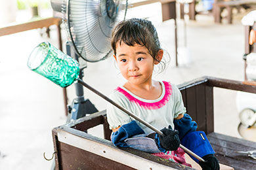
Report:
[[[165,66],[161,61],[163,50],[154,25],[138,18],[124,20],[112,31],[111,45],[121,75],[127,82],[116,88],[110,98],[165,134],[165,137],[159,136],[109,104],[107,116],[113,131],[112,143],[188,165],[184,161],[184,151],[179,148],[181,143],[205,160],[198,162],[191,156],[203,169],[219,169],[205,133],[196,131],[196,122],[185,113],[177,86],[152,79],[154,66]]]

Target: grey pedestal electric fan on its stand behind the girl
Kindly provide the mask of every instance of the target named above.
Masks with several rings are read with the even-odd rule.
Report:
[[[87,61],[110,56],[110,34],[114,25],[125,19],[127,0],[51,0],[51,6],[54,17],[62,18],[68,35],[67,54],[79,61],[82,78]],[[77,98],[68,108],[72,119],[98,111],[89,99],[84,99],[81,84],[75,83],[75,93]]]

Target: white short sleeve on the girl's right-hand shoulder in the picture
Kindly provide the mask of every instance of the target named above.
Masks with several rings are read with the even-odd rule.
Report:
[[[181,91],[175,84],[171,84],[172,89],[173,89],[173,95],[175,97],[175,113],[174,113],[174,118],[177,118],[180,114],[184,114],[186,112],[186,107],[184,107],[184,103],[182,100],[182,95]]]

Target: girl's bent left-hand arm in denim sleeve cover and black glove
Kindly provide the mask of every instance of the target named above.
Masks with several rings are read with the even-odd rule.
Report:
[[[177,150],[181,143],[178,132],[171,129],[171,126],[168,129],[161,129],[165,134],[164,137],[159,137],[156,133],[146,136],[135,120],[112,130],[111,139],[115,146],[131,147],[144,152],[158,153]]]

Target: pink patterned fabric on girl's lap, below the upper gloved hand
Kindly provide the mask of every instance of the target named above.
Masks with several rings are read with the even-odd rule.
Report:
[[[165,160],[175,161],[177,163],[181,163],[182,165],[192,167],[190,163],[186,163],[184,154],[185,154],[184,150],[182,150],[182,148],[178,148],[175,151],[167,151],[165,153],[160,152],[153,155],[163,158]]]

